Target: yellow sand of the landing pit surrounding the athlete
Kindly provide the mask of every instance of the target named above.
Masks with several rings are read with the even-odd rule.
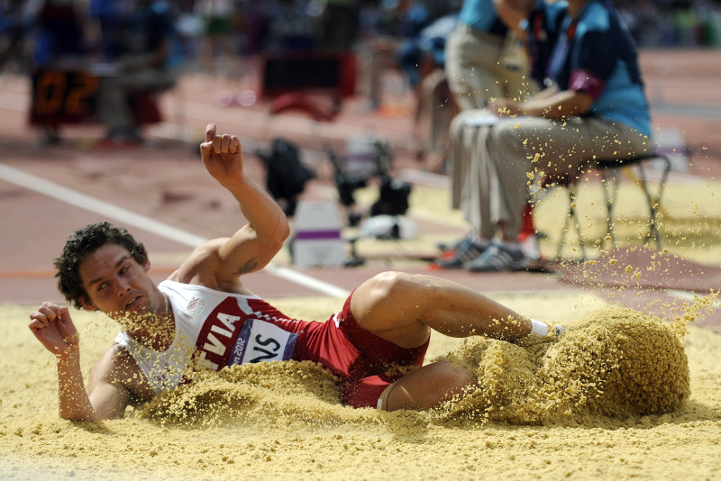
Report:
[[[698,479],[721,471],[721,336],[686,327],[713,300],[661,324],[592,295],[496,298],[570,329],[558,342],[524,346],[434,336],[429,358],[453,353],[484,375],[484,390],[450,411],[343,407],[323,371],[275,363],[204,373],[123,420],[98,423],[58,418],[53,361],[26,328],[32,308],[4,306],[0,472],[163,480]],[[324,318],[336,304],[278,302],[306,318]],[[75,320],[87,372],[117,328],[97,314]]]

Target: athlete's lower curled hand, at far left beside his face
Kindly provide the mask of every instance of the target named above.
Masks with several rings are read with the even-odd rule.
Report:
[[[42,303],[36,312],[30,314],[30,319],[28,327],[56,358],[79,352],[78,330],[67,307]]]

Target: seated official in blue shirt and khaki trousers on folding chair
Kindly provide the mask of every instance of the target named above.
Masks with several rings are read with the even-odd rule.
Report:
[[[641,155],[651,122],[637,51],[607,0],[536,5],[527,38],[534,76],[546,88],[526,102],[497,98],[501,119],[479,135],[477,255],[457,268],[475,272],[526,268],[516,241],[528,202],[528,179],[567,180],[592,159]],[[552,41],[555,39],[554,41]]]

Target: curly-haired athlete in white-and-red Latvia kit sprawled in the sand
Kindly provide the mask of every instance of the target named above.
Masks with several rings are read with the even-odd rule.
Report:
[[[453,337],[518,340],[549,327],[439,277],[386,272],[353,291],[327,322],[288,318],[253,295],[241,277],[265,267],[289,234],[285,214],[243,173],[241,142],[210,124],[200,145],[205,168],[240,204],[247,223],[232,237],[207,241],[156,286],[142,244],[107,222],[68,239],[55,259],[68,302],[102,311],[122,331],[96,361],[87,389],[68,307],[43,303],[30,329],[55,355],[59,415],[78,421],[122,417],[183,382],[187,369],[260,360],[312,360],[340,379],[355,407],[427,409],[476,383],[460,365],[422,366],[431,331]],[[417,367],[402,376],[393,366]]]

